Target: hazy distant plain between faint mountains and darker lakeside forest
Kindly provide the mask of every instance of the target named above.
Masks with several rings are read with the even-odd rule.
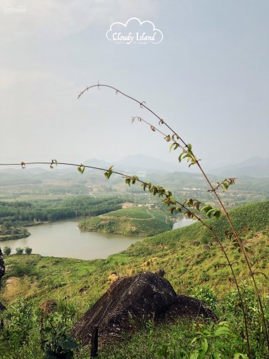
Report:
[[[212,182],[220,180],[219,176],[210,175]],[[199,173],[188,172],[150,172],[147,170],[148,180],[161,183],[164,187],[184,201],[186,198],[197,198],[203,202],[216,203],[214,196],[207,191],[206,183]],[[76,171],[40,170],[35,173],[34,169],[27,171],[15,170],[0,172],[0,199],[6,201],[17,199],[27,201],[39,199],[66,198],[70,196],[88,196],[89,191],[97,196],[127,196],[128,194],[142,194],[144,191],[140,186],[127,187],[120,177],[111,176],[107,182],[102,173],[85,170],[83,176],[77,176]],[[144,196],[144,194],[143,194]],[[234,187],[221,194],[225,205],[234,208],[246,203],[265,201],[269,199],[269,179],[242,176],[237,179]],[[151,199],[151,201],[154,201]],[[159,201],[158,201],[159,203]]]

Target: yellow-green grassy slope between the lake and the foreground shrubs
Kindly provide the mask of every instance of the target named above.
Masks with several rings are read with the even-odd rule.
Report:
[[[256,272],[269,275],[269,201],[236,208],[230,212],[237,229],[244,225],[251,230],[243,234],[251,262]],[[225,227],[223,218],[208,220],[217,231]],[[223,253],[210,234],[199,223],[158,234],[155,237],[132,244],[126,251],[109,256],[106,260],[76,260],[71,258],[31,256],[8,256],[5,258],[6,275],[17,278],[18,285],[7,285],[2,292],[5,303],[15,301],[18,296],[33,296],[37,300],[70,296],[79,299],[79,310],[89,308],[111,282],[118,276],[131,275],[144,270],[165,270],[165,277],[178,294],[192,294],[196,286],[208,284],[223,295],[234,288],[230,270]],[[224,245],[239,279],[249,279],[242,264],[242,256],[225,239]],[[115,274],[116,273],[116,274]],[[263,283],[265,277],[259,277]],[[12,281],[11,281],[12,282]],[[83,293],[80,289],[86,288]],[[87,295],[86,297],[85,294]],[[81,303],[81,298],[87,301]]]

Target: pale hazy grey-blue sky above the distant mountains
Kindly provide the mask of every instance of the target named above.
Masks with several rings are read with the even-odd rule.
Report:
[[[8,12],[7,5],[23,11]],[[113,161],[169,144],[115,87],[146,101],[204,163],[268,157],[268,0],[0,0],[0,161]],[[115,44],[114,22],[149,20],[159,44]]]

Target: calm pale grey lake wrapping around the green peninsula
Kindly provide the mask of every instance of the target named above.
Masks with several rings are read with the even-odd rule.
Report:
[[[187,218],[178,220],[173,229],[190,225],[194,221]],[[44,225],[27,227],[30,237],[0,242],[1,248],[9,246],[12,253],[15,248],[26,246],[32,253],[42,256],[54,256],[78,259],[107,258],[111,254],[124,251],[131,244],[142,241],[143,237],[128,237],[120,234],[101,232],[80,232],[78,220],[61,220]]]

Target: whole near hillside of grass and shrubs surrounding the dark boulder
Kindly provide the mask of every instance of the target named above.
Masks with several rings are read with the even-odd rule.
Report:
[[[264,275],[258,275],[257,279],[258,286],[263,289],[266,317],[269,317],[268,206],[267,201],[230,211],[237,230],[240,231],[245,225],[251,228],[242,233],[242,241],[254,263],[255,272],[264,273]],[[208,224],[215,225],[215,229],[220,232],[221,229],[225,229],[226,222],[220,218],[218,221],[208,220]],[[244,289],[252,355],[256,359],[263,359],[266,355],[265,346],[263,346],[264,333],[261,332],[261,316],[254,292],[249,285],[248,272],[240,253],[234,251],[232,242],[223,239],[223,244],[234,261],[234,271],[239,276],[240,286]],[[4,282],[9,283],[10,278],[13,278],[13,282],[12,285],[4,286],[1,301],[4,301],[9,308],[6,315],[9,315],[11,322],[14,321],[14,325],[11,326],[14,331],[17,330],[16,325],[17,327],[23,325],[20,321],[24,323],[23,328],[25,328],[23,331],[25,334],[21,334],[24,335],[24,339],[20,339],[21,337],[14,339],[20,343],[23,340],[20,346],[10,341],[1,341],[0,350],[4,353],[4,359],[31,358],[33,353],[36,353],[36,358],[42,358],[38,319],[39,303],[42,301],[48,298],[55,298],[58,301],[60,298],[60,303],[64,302],[68,310],[73,310],[71,316],[68,310],[69,314],[65,315],[60,309],[56,314],[58,323],[61,321],[67,323],[65,335],[68,336],[73,322],[91,308],[101,294],[108,289],[111,284],[111,273],[117,272],[121,277],[145,270],[155,272],[160,267],[164,268],[165,277],[178,294],[196,296],[211,306],[220,316],[220,320],[225,318],[228,323],[227,330],[226,324],[208,325],[204,322],[194,324],[184,320],[162,325],[148,322],[131,338],[127,336],[123,343],[115,342],[113,346],[110,344],[108,348],[102,348],[99,357],[102,359],[189,359],[191,355],[196,355],[198,352],[199,355],[201,354],[200,357],[196,355],[192,358],[211,358],[211,354],[220,351],[221,358],[232,359],[235,358],[235,353],[246,354],[244,336],[240,335],[244,333],[242,313],[230,270],[222,253],[218,250],[218,245],[212,241],[210,232],[206,232],[199,223],[137,242],[126,251],[109,256],[106,260],[75,260],[38,255],[11,255],[4,259],[7,270]],[[81,293],[80,289],[83,287],[88,287],[89,290]],[[25,322],[23,317],[18,316],[18,308],[25,306],[18,302],[18,298],[23,298],[27,306],[30,306],[27,308],[31,308],[30,327],[32,329],[27,327],[27,321]],[[63,300],[63,298],[69,299]],[[15,307],[11,306],[11,303],[15,303]],[[17,308],[17,311],[14,312],[14,308]],[[21,309],[20,313],[23,313]],[[49,325],[50,328],[57,327],[56,323]],[[50,333],[48,331],[46,335],[49,336]],[[56,335],[62,334],[56,332]],[[14,337],[16,338],[15,334]],[[50,340],[46,337],[46,342]],[[12,353],[13,356],[5,353]],[[75,358],[89,358],[89,348],[76,351]],[[215,358],[219,357],[215,356]],[[246,356],[237,355],[237,358],[246,358]]]

